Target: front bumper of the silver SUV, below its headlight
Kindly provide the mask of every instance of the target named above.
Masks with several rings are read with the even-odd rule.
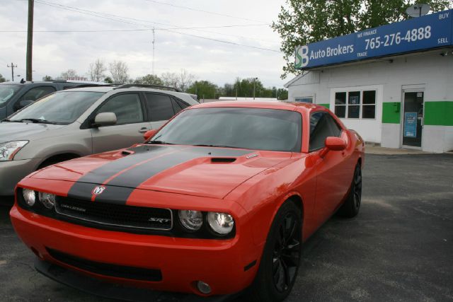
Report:
[[[12,196],[17,183],[35,171],[40,161],[40,158],[0,161],[0,196]]]

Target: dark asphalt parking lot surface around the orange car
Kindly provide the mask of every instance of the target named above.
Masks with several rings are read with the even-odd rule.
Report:
[[[453,154],[365,165],[360,214],[334,216],[306,242],[287,301],[453,301]],[[0,207],[0,301],[110,301],[42,277],[34,257]]]

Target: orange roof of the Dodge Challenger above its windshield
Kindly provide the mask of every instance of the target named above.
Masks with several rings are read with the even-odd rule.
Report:
[[[241,101],[241,100],[231,100],[231,101],[219,101],[219,102],[210,102],[202,103],[200,105],[195,105],[192,108],[222,108],[222,107],[241,107],[241,108],[265,108],[265,109],[277,109],[277,110],[291,110],[291,111],[311,111],[311,110],[326,110],[325,107],[321,105],[311,104],[311,103],[302,103],[302,102],[278,102],[278,101]]]

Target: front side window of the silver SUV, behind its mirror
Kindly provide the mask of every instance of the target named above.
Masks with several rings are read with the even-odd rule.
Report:
[[[118,124],[144,122],[142,103],[137,93],[120,94],[110,98],[97,113],[113,112]]]

